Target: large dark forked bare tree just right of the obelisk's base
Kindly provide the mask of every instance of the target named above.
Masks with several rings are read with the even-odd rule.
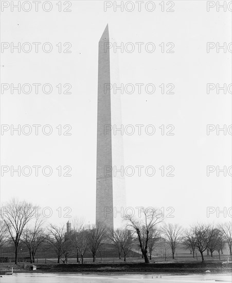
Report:
[[[139,247],[144,256],[145,263],[149,263],[148,259],[148,241],[151,238],[152,230],[155,225],[162,222],[162,214],[155,208],[141,209],[141,217],[137,218],[134,215],[126,215],[128,228],[132,233],[137,234]]]

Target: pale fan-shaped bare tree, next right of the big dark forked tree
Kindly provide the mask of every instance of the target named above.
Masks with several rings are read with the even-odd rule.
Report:
[[[176,247],[180,243],[180,237],[182,235],[182,228],[177,224],[169,223],[169,224],[165,224],[162,227],[162,232],[171,247],[172,259],[174,259]]]

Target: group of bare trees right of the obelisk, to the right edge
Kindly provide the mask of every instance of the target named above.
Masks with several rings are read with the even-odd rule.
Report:
[[[197,223],[190,226],[189,229],[182,229],[178,224],[157,225],[163,222],[160,210],[144,209],[143,217],[139,219],[135,216],[126,216],[128,226],[131,231],[137,235],[141,253],[144,256],[145,262],[149,263],[148,252],[150,259],[153,248],[157,244],[163,242],[163,252],[165,259],[167,258],[168,248],[171,251],[172,258],[176,252],[176,247],[183,243],[187,249],[193,254],[198,252],[201,254],[202,262],[204,252],[210,252],[211,257],[213,252],[217,251],[220,258],[220,252],[224,246],[228,246],[229,254],[232,255],[232,225],[231,222],[219,224],[217,226],[211,224]]]

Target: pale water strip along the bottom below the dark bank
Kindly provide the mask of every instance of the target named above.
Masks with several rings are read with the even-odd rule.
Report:
[[[153,276],[153,278],[152,278]],[[156,276],[158,278],[156,278]],[[231,282],[231,274],[197,274],[197,275],[86,275],[66,273],[15,273],[3,275],[1,283],[210,283]]]

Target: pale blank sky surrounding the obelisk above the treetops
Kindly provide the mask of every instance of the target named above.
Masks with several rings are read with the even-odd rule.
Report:
[[[2,125],[42,125],[38,135],[34,127],[30,135],[22,131],[21,135],[2,131],[2,170],[3,166],[52,168],[50,176],[44,176],[41,168],[38,176],[35,170],[30,176],[22,172],[21,176],[17,173],[11,176],[10,171],[4,173],[1,201],[17,197],[41,208],[51,207],[53,214],[48,222],[67,222],[64,211],[62,217],[58,217],[56,209],[59,207],[62,210],[70,207],[72,217],[95,221],[98,41],[109,24],[110,36],[118,45],[131,42],[135,46],[133,52],[128,51],[129,45],[123,52],[116,50],[120,82],[155,85],[152,94],[142,87],[140,94],[135,89],[133,94],[124,91],[121,95],[123,126],[145,125],[141,135],[137,127],[133,135],[124,132],[124,167],[153,166],[156,170],[153,176],[146,175],[144,169],[141,176],[137,171],[133,176],[126,176],[127,206],[164,207],[166,214],[172,211],[174,216],[168,221],[183,226],[197,221],[231,220],[231,170],[230,175],[226,172],[226,176],[223,173],[217,176],[217,166],[219,169],[231,166],[231,88],[230,93],[227,90],[225,94],[223,91],[217,94],[215,89],[207,94],[207,83],[215,86],[231,83],[231,13],[228,7],[225,12],[222,9],[217,12],[217,7],[207,12],[206,1],[174,1],[172,8],[172,2],[164,3],[164,9],[170,8],[173,12],[162,12],[162,5],[159,5],[162,2],[153,1],[155,9],[152,12],[146,10],[145,4],[141,4],[140,12],[137,6],[132,12],[121,12],[120,9],[114,11],[114,7],[104,11],[103,1],[72,1],[68,8],[72,11],[59,12],[58,1],[51,2],[50,12],[43,11],[41,6],[38,12],[34,6],[29,12],[22,9],[11,12],[11,7],[7,7],[1,14],[1,41],[10,45],[11,42],[21,45],[28,42],[32,46],[28,53],[22,48],[20,53],[16,49],[13,52],[10,48],[2,49],[2,83],[52,85],[50,94],[43,93],[41,86],[38,94],[34,89],[30,94],[22,91],[18,94],[15,90],[11,94],[11,89],[1,93]],[[129,4],[126,8],[130,9]],[[32,42],[41,43],[38,53]],[[52,45],[49,53],[42,50],[45,42]],[[63,46],[67,42],[72,44],[67,49],[72,51],[70,53],[63,52],[70,46]],[[141,52],[136,42],[144,43]],[[155,45],[154,52],[146,50],[149,42]],[[207,53],[207,42],[215,43],[216,47],[217,42],[219,45],[225,42],[227,49],[217,52],[215,47]],[[61,43],[61,53],[58,43]],[[159,46],[162,43],[164,53]],[[166,52],[173,46],[166,46],[167,43],[174,44],[170,49],[173,53]],[[25,50],[28,46],[24,45]],[[58,93],[56,86],[65,83],[72,85],[69,91],[72,94]],[[165,86],[173,84],[174,94],[162,94],[159,85],[163,83]],[[50,135],[42,133],[44,125],[52,127]],[[58,134],[58,125],[62,127],[62,135]],[[72,127],[67,132],[71,135],[63,135],[69,130],[64,130],[64,125]],[[155,127],[153,135],[145,132],[147,125]],[[161,134],[161,125],[165,127],[165,135]],[[172,129],[166,129],[167,125],[174,126],[171,132],[174,135],[166,135]],[[217,125],[220,128],[226,125],[228,131],[226,135],[222,131],[217,135],[216,130],[207,135],[207,125],[215,125],[216,129]],[[72,176],[59,176],[56,169],[59,166],[70,166]],[[162,166],[165,176],[159,169]],[[167,170],[168,166],[174,167],[174,176],[166,176],[172,168]],[[209,176],[207,166],[216,169]],[[62,169],[62,175],[68,168]],[[220,214],[217,218],[216,212],[207,217],[207,207],[215,207],[215,211],[226,207],[226,217]]]

